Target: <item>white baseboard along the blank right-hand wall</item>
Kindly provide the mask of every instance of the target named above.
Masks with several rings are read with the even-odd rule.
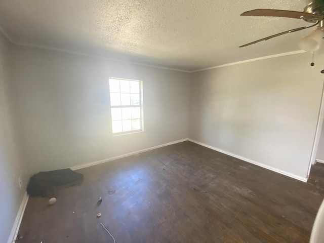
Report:
[[[274,172],[277,172],[279,174],[282,174],[282,175],[285,175],[285,176],[289,176],[291,178],[294,178],[294,179],[297,179],[297,180],[300,180],[300,181],[303,181],[303,182],[307,182],[307,178],[306,177],[301,177],[301,176],[297,176],[297,175],[294,175],[294,174],[291,174],[289,172],[286,172],[286,171],[282,171],[282,170],[279,170],[279,169],[276,169],[274,167],[271,167],[271,166],[267,166],[267,165],[264,165],[262,163],[259,163],[257,161],[254,161],[252,159],[249,159],[249,158],[245,158],[245,157],[242,157],[242,156],[239,156],[239,155],[236,155],[236,154],[233,154],[231,152],[228,152],[228,151],[225,151],[225,150],[222,150],[222,149],[219,149],[219,148],[215,148],[213,146],[210,146],[208,144],[205,144],[205,143],[201,143],[201,142],[198,142],[198,141],[195,141],[193,139],[188,139],[190,142],[193,142],[193,143],[196,143],[196,144],[199,144],[201,146],[204,146],[204,147],[207,147],[207,148],[210,148],[210,149],[213,149],[215,151],[218,151],[218,152],[221,152],[221,153],[224,153],[224,154],[227,154],[229,156],[232,156],[234,158],[238,158],[240,160],[244,160],[246,162],[249,162],[251,164],[254,164],[256,166],[260,166],[260,167],[263,167],[265,169],[268,169],[270,171],[274,171]]]

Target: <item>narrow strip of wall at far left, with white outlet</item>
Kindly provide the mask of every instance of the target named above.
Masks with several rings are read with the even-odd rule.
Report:
[[[7,242],[21,204],[27,181],[17,136],[11,86],[11,48],[0,33],[0,242]],[[20,188],[18,177],[23,185]]]

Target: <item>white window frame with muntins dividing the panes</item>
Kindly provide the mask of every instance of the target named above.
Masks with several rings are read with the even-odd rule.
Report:
[[[128,81],[136,81],[139,82],[139,98],[140,98],[140,104],[139,105],[121,105],[121,101],[120,101],[120,105],[111,105],[110,99],[109,99],[109,103],[110,103],[110,121],[111,121],[111,132],[112,132],[112,117],[111,117],[111,109],[112,108],[134,108],[134,107],[139,107],[140,111],[141,111],[141,116],[140,116],[140,124],[141,124],[141,128],[137,129],[137,130],[131,130],[131,131],[125,131],[125,132],[119,132],[119,133],[113,133],[112,132],[112,136],[119,136],[119,135],[126,135],[126,134],[133,134],[133,133],[140,133],[140,132],[144,132],[144,122],[143,122],[143,81],[142,80],[137,80],[137,79],[128,79],[128,78],[120,78],[120,77],[109,77],[108,79],[108,87],[109,86],[109,81],[110,79],[119,79],[119,80],[128,80]],[[131,92],[131,91],[130,91]],[[116,92],[110,92],[110,88],[109,88],[109,97],[111,93],[115,93],[118,94]],[[120,92],[120,84],[119,84],[119,94],[124,94]],[[132,93],[130,93],[132,94]],[[123,117],[121,117],[121,121],[123,120],[127,120],[127,119],[123,119]]]

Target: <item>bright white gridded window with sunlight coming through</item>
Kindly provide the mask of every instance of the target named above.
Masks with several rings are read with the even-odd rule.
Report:
[[[112,133],[143,131],[142,82],[109,78]]]

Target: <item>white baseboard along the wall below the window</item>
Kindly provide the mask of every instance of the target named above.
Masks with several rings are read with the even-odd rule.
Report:
[[[161,147],[165,147],[165,146],[172,145],[172,144],[175,144],[175,143],[181,143],[181,142],[188,141],[188,140],[189,140],[188,138],[180,139],[180,140],[177,140],[177,141],[173,141],[173,142],[164,143],[164,144],[160,144],[160,145],[149,147],[149,148],[136,150],[136,151],[133,151],[133,152],[130,152],[130,153],[125,153],[125,154],[117,155],[117,156],[114,156],[114,157],[105,158],[105,159],[97,160],[97,161],[94,161],[94,162],[90,162],[90,163],[86,163],[86,164],[82,164],[82,165],[78,165],[78,166],[72,166],[72,167],[70,167],[70,169],[72,171],[75,171],[75,170],[87,168],[87,167],[90,167],[90,166],[95,166],[95,165],[99,165],[99,164],[102,164],[102,163],[106,163],[108,161],[115,160],[115,159],[118,159],[118,158],[128,157],[128,156],[131,156],[131,155],[134,155],[134,154],[137,154],[137,153],[142,153],[142,152],[149,151],[149,150],[152,150],[152,149],[155,149],[155,148],[161,148]]]

